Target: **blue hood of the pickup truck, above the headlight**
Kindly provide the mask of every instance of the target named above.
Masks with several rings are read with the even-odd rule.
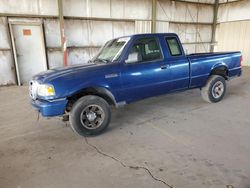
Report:
[[[84,64],[84,65],[74,65],[70,67],[61,67],[50,69],[44,72],[41,72],[33,77],[33,80],[38,81],[39,83],[48,83],[55,79],[61,77],[72,77],[79,74],[84,74],[84,72],[89,72],[96,69],[98,66],[104,66],[105,64]]]

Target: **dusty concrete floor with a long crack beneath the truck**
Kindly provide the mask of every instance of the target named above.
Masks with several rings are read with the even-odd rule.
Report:
[[[208,104],[199,90],[113,110],[97,137],[37,121],[27,87],[0,88],[0,187],[250,187],[250,69]]]

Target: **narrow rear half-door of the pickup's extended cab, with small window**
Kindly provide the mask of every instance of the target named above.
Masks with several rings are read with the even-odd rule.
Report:
[[[171,71],[171,91],[186,89],[190,80],[189,61],[177,37],[167,36],[165,42],[169,52],[166,61]]]

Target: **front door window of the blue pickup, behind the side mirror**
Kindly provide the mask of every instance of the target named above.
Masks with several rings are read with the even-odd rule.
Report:
[[[129,50],[126,63],[141,63],[162,59],[163,55],[157,38],[137,39]]]

